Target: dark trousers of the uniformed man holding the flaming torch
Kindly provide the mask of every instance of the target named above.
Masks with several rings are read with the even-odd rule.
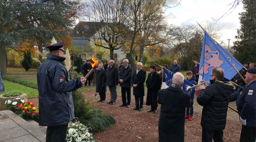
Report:
[[[66,141],[68,124],[48,126],[46,130],[46,142]]]

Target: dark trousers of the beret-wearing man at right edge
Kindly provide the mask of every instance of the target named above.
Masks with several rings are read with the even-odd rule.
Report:
[[[255,142],[256,128],[242,125],[240,142]]]

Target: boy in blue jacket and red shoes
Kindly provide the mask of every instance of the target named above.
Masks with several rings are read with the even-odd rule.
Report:
[[[196,85],[196,78],[193,76],[192,71],[187,71],[186,75],[187,75],[186,80],[188,80],[190,83]],[[191,96],[191,100],[194,100],[194,98],[195,98],[195,88],[193,88],[191,90],[191,92],[189,92],[189,94]],[[189,110],[190,110],[190,113],[189,113]],[[194,109],[193,109],[193,105],[192,105],[192,106],[187,108],[185,119],[193,120],[193,114],[194,114]]]

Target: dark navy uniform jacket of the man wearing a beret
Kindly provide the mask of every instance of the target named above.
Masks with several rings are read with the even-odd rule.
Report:
[[[229,102],[236,101],[241,118],[246,119],[246,126],[256,127],[256,81],[242,86],[231,94]]]

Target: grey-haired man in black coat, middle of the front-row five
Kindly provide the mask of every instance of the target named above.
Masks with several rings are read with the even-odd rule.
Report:
[[[122,102],[119,107],[129,108],[131,105],[131,87],[132,87],[132,67],[129,66],[128,59],[123,60],[124,67],[121,68],[118,74],[118,80],[120,81]],[[126,94],[127,93],[127,101]]]

